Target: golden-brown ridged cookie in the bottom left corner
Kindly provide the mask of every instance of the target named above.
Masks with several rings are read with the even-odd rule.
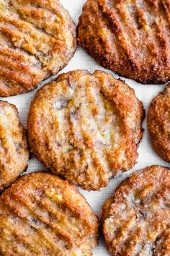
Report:
[[[90,256],[98,218],[76,187],[33,173],[0,196],[0,236],[4,256]]]

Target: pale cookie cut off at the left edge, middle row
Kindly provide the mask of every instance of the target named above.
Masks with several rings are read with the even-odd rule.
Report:
[[[0,101],[0,192],[17,179],[28,160],[27,138],[17,108]]]

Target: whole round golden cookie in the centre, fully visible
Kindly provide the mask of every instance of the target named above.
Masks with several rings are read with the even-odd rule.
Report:
[[[135,165],[143,104],[106,72],[61,74],[35,95],[27,129],[32,153],[53,174],[88,190]]]

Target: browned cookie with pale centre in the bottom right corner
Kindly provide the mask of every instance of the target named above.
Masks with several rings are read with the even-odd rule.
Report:
[[[170,169],[150,166],[131,174],[102,208],[111,255],[169,255]]]

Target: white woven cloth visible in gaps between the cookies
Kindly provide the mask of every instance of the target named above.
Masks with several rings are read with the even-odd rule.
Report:
[[[79,15],[81,14],[81,9],[84,5],[86,0],[61,0],[61,3],[63,4],[63,7],[69,10],[71,17],[73,20],[78,22]],[[91,59],[88,54],[86,54],[85,51],[83,51],[81,48],[77,48],[76,54],[74,55],[73,59],[69,62],[68,66],[66,66],[65,69],[63,69],[62,72],[68,72],[74,69],[87,69],[89,72],[94,72],[94,70],[105,70],[102,67],[99,66],[93,59]],[[115,77],[118,77],[117,74],[114,74],[113,72],[108,71]],[[144,107],[146,109],[146,114],[148,110],[149,103],[151,102],[151,99],[157,95],[157,93],[161,90],[163,90],[164,85],[140,85],[137,82],[134,82],[133,80],[128,80],[125,78],[122,78],[122,80],[125,80],[130,87],[135,89],[135,93],[140,99],[140,101],[143,101]],[[44,84],[44,83],[43,83]],[[40,85],[38,88],[40,88],[42,85]],[[2,98],[4,101],[9,101],[9,103],[13,103],[17,106],[19,110],[19,116],[22,121],[22,124],[24,124],[24,127],[27,126],[27,112],[29,110],[30,103],[32,99],[34,98],[34,95],[37,90],[26,93],[19,96],[14,96],[11,98]],[[94,212],[97,213],[98,216],[101,214],[101,208],[104,200],[112,195],[112,192],[117,187],[117,184],[120,184],[122,179],[125,179],[126,176],[128,176],[131,172],[137,171],[141,168],[144,168],[146,166],[150,166],[152,164],[160,164],[162,166],[169,166],[169,163],[166,163],[165,161],[162,161],[161,158],[156,155],[156,153],[151,148],[151,143],[148,140],[148,131],[146,127],[146,119],[143,122],[143,128],[145,129],[143,140],[140,142],[140,146],[138,148],[138,163],[134,166],[134,168],[131,171],[128,171],[126,174],[121,176],[120,179],[111,179],[109,181],[109,186],[105,189],[102,189],[100,192],[86,192],[82,189],[80,189],[81,193],[86,197],[86,200],[91,205],[91,208],[93,208]],[[42,166],[42,164],[37,161],[35,158],[32,158],[29,162],[29,167],[27,172],[32,172],[36,170],[44,170],[45,167]],[[104,243],[102,242],[102,239],[99,239],[99,246],[94,249],[94,256],[105,256],[109,255],[107,250],[104,247]]]

